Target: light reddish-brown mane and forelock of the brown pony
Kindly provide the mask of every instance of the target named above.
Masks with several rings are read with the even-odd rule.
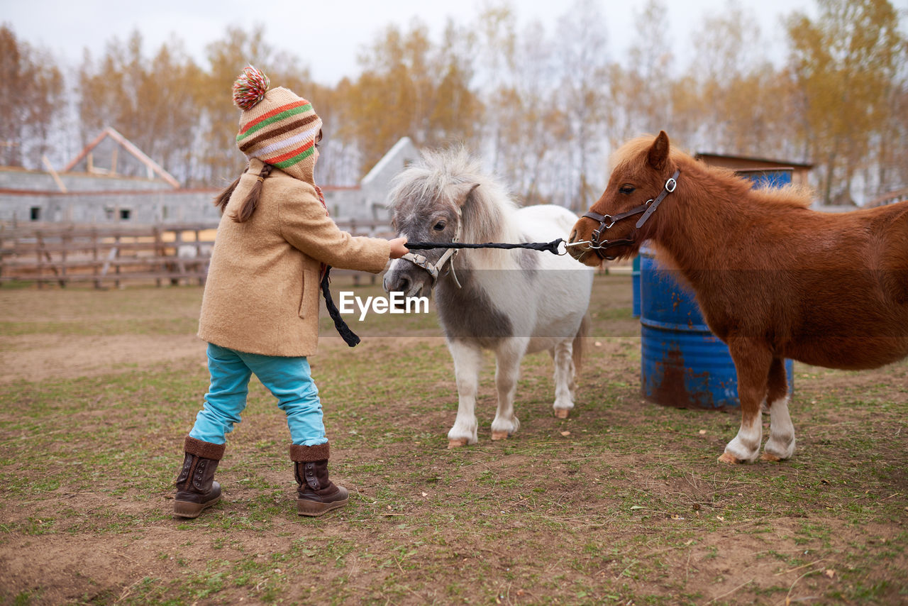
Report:
[[[646,166],[646,153],[653,144],[654,135],[645,134],[622,144],[611,156],[613,170],[627,168],[635,173]],[[735,191],[761,205],[778,204],[790,208],[806,208],[813,202],[814,192],[806,185],[785,185],[784,187],[762,187],[752,189],[752,183],[735,171],[721,166],[710,166],[672,145],[668,161],[681,169],[682,175],[696,176],[697,180],[710,178],[725,190]],[[683,178],[683,176],[682,176]]]

